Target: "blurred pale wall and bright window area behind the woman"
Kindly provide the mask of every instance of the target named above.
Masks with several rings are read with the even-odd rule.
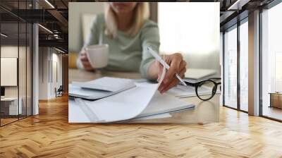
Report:
[[[77,53],[104,3],[69,3],[69,51]],[[149,3],[150,19],[159,25],[160,54],[180,51],[188,68],[220,74],[219,3]],[[200,13],[199,13],[200,11]],[[196,16],[195,16],[196,15]]]

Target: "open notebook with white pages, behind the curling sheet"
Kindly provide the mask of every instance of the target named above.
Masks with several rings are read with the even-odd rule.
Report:
[[[88,82],[73,82],[69,85],[68,95],[94,100],[109,97],[133,87],[136,87],[133,80],[104,77]]]

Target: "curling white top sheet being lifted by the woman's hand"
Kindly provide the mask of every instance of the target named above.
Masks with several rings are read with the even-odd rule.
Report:
[[[161,74],[161,81],[166,71]],[[97,101],[76,98],[68,102],[68,122],[102,123],[133,119],[147,107],[159,84],[135,83],[136,87]]]

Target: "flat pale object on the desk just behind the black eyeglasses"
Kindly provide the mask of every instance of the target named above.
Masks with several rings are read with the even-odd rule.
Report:
[[[188,68],[185,73],[185,78],[199,80],[214,74],[216,74],[216,70],[214,69]]]

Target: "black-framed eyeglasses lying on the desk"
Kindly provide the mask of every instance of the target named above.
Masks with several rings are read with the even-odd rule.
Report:
[[[201,99],[202,101],[207,101],[209,99],[212,99],[212,97],[214,97],[214,95],[216,94],[217,87],[219,85],[221,85],[221,82],[216,83],[216,81],[214,81],[214,80],[221,80],[221,78],[209,78],[207,80],[201,80],[200,82],[197,82],[197,83],[190,83],[190,82],[188,82],[186,80],[184,82],[186,83],[186,85],[190,85],[190,86],[195,87],[196,95],[197,95],[197,97],[199,99]],[[200,87],[204,82],[207,82],[207,81],[210,81],[210,82],[214,83],[214,87],[212,88],[212,95],[211,95],[211,97],[209,97],[207,99],[202,99],[200,97],[200,95],[198,94],[198,87]]]

